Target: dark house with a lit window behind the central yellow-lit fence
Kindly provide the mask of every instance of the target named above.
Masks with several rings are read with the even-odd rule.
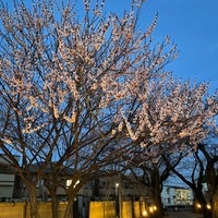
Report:
[[[116,209],[119,209],[120,202],[140,202],[142,208],[152,205],[147,195],[147,187],[138,181],[133,181],[132,178],[122,175],[105,177],[94,179],[87,182],[77,193],[74,199],[74,214],[78,217],[87,217],[89,211],[89,202],[114,202]],[[80,181],[77,181],[80,183]],[[71,184],[71,180],[65,181],[65,186]],[[75,184],[76,185],[76,184]],[[38,201],[51,201],[48,190],[40,181],[37,186]],[[68,201],[64,189],[57,190],[59,201]],[[80,215],[78,215],[80,214]]]

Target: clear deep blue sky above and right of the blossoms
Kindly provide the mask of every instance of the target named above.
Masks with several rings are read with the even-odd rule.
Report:
[[[131,0],[109,0],[107,8],[121,12],[130,4]],[[169,35],[180,50],[170,70],[184,80],[209,81],[210,90],[218,88],[217,10],[217,0],[147,0],[140,17],[144,28],[158,12],[155,39],[161,41]]]

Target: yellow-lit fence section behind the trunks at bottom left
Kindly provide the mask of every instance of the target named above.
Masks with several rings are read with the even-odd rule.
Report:
[[[63,218],[66,204],[59,203],[59,217]],[[51,203],[38,203],[40,218],[52,218]],[[1,203],[0,218],[29,218],[28,203]]]

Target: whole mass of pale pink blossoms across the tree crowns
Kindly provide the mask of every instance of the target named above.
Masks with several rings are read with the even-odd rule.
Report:
[[[165,70],[177,47],[168,36],[154,43],[157,16],[136,29],[142,1],[122,17],[104,17],[105,1],[90,11],[84,0],[83,20],[73,7],[49,2],[39,0],[33,10],[21,4],[14,14],[1,10],[1,98],[13,109],[10,118],[21,118],[23,134],[52,122],[96,134],[110,122],[112,136],[123,133],[141,146],[205,137],[217,99],[207,96],[206,84],[182,83]]]

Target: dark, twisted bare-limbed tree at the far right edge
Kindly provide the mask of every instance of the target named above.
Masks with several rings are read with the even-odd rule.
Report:
[[[169,157],[166,160],[170,166]],[[193,190],[195,202],[201,204],[205,218],[217,217],[217,145],[204,142],[197,145],[192,156],[184,158],[177,168],[172,168],[173,173]],[[210,205],[209,209],[207,205]]]

